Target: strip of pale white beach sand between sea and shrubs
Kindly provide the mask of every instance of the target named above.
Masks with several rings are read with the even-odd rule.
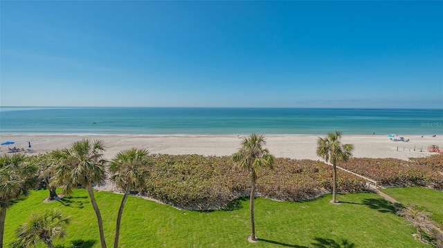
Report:
[[[392,142],[385,135],[343,135],[345,144],[354,144],[356,158],[408,158],[425,157],[429,144],[443,148],[442,135],[404,135],[409,142]],[[316,155],[317,135],[265,135],[266,147],[276,157],[320,160]],[[324,135],[322,135],[324,137]],[[0,142],[14,141],[11,148],[28,149],[28,141],[35,153],[46,153],[69,147],[73,142],[88,138],[105,141],[105,158],[110,160],[125,149],[147,149],[150,153],[231,155],[242,141],[236,135],[61,135],[61,134],[1,134]],[[398,150],[397,151],[397,146]],[[415,146],[415,151],[413,151]],[[423,152],[420,152],[423,146]],[[403,151],[404,148],[404,151]],[[8,152],[3,145],[0,154]]]

